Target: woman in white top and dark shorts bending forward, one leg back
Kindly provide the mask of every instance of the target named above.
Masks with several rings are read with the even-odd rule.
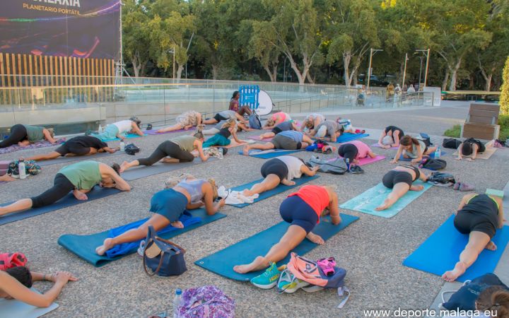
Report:
[[[294,178],[300,178],[303,174],[308,176],[316,175],[319,166],[310,169],[305,165],[304,161],[300,158],[293,157],[292,155],[281,155],[278,158],[272,158],[262,165],[263,181],[254,184],[251,189],[245,189],[242,194],[245,196],[253,196],[254,194],[261,194],[262,192],[269,191],[284,184],[286,186],[293,186]]]

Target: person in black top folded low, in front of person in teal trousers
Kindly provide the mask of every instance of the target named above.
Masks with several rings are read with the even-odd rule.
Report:
[[[110,148],[107,143],[93,136],[76,136],[66,141],[51,153],[33,155],[25,160],[51,160],[72,155],[95,155],[96,153],[115,153],[119,148]]]

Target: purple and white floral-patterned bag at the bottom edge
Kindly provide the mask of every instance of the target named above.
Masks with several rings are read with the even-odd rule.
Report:
[[[178,307],[179,318],[234,318],[235,300],[216,286],[189,288],[182,293]]]

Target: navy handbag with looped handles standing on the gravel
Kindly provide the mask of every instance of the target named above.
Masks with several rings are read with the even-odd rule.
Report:
[[[185,249],[156,235],[152,225],[148,226],[145,240],[143,264],[148,276],[177,276],[187,271]],[[148,272],[151,269],[151,273]]]

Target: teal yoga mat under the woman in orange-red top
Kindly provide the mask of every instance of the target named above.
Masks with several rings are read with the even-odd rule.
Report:
[[[341,223],[339,225],[333,225],[329,217],[322,218],[320,224],[318,224],[312,232],[320,235],[327,241],[355,220],[358,220],[357,216],[349,216],[348,214],[341,213]],[[252,237],[247,237],[245,240],[226,247],[226,249],[221,249],[221,251],[211,254],[208,257],[199,259],[195,261],[194,264],[218,275],[234,279],[235,281],[250,281],[251,278],[258,276],[260,273],[263,273],[263,271],[241,274],[233,271],[233,266],[250,263],[255,257],[267,254],[269,249],[279,242],[288,229],[288,226],[290,226],[290,224],[286,222],[278,223]],[[327,244],[327,242],[325,244]],[[304,239],[303,242],[291,252],[304,255],[317,246],[317,244],[310,240]],[[282,264],[286,264],[289,260],[290,253],[288,253],[285,259],[279,261],[277,265],[281,266]]]

